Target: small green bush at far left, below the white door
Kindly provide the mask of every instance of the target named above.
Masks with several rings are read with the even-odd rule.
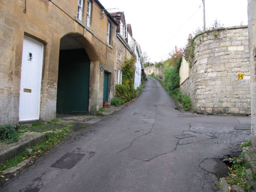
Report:
[[[0,126],[0,140],[7,143],[17,142],[19,134],[15,127],[11,124]]]

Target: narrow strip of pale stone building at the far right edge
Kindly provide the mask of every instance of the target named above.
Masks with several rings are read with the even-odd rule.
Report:
[[[251,144],[256,154],[256,2],[248,0],[249,55],[251,67]]]

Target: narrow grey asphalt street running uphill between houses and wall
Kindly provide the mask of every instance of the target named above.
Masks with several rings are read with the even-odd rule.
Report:
[[[250,139],[250,117],[175,110],[147,77],[129,106],[68,138],[1,191],[215,191],[216,159]]]

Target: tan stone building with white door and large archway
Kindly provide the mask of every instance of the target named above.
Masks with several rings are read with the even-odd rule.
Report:
[[[98,0],[0,4],[0,124],[94,114],[111,100],[116,55],[133,52]]]

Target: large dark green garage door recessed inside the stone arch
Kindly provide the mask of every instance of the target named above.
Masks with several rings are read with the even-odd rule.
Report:
[[[83,49],[59,53],[57,113],[87,114],[90,60]]]

